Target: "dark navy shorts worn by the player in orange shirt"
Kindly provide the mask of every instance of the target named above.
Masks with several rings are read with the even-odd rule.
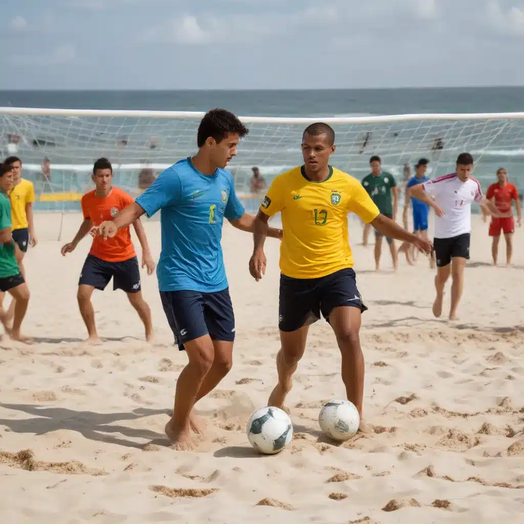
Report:
[[[101,291],[113,277],[113,289],[122,289],[126,293],[140,291],[140,268],[137,257],[122,262],[108,262],[93,255],[85,259],[78,285],[93,286]]]

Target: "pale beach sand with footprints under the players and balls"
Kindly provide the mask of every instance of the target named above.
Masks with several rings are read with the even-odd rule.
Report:
[[[267,273],[248,273],[250,235],[224,227],[224,256],[236,314],[232,372],[198,405],[208,434],[196,452],[168,447],[163,428],[186,362],[173,347],[155,276],[143,272],[154,345],[123,292],[94,293],[100,347],[83,343],[76,289],[90,241],[63,258],[81,222],[37,215],[40,244],[26,257],[31,289],[26,334],[0,343],[0,496],[4,522],[248,521],[366,524],[512,523],[524,511],[524,230],[514,268],[490,266],[487,224],[474,217],[471,261],[449,322],[431,313],[433,275],[420,255],[397,274],[372,271],[373,246],[358,245],[357,285],[369,307],[361,340],[365,414],[374,433],[336,444],[317,422],[322,401],[344,397],[340,355],[323,320],[288,397],[294,427],[280,454],[260,456],[245,424],[264,406],[279,349],[278,241]],[[158,257],[158,222],[146,222]],[[370,237],[373,241],[373,235]],[[136,243],[138,246],[138,243]],[[386,245],[385,245],[386,246]],[[505,259],[501,242],[501,258]],[[6,302],[8,299],[6,300]]]

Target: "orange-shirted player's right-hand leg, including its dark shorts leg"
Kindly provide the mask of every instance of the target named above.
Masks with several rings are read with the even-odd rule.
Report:
[[[140,287],[140,268],[138,258],[135,256],[122,262],[114,262],[113,265],[113,289],[122,289],[127,294],[130,304],[135,308],[140,320],[144,324],[146,340],[153,340],[153,325],[151,322],[151,310],[142,296]]]

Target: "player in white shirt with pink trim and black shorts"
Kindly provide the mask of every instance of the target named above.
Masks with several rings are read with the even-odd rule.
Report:
[[[471,176],[473,157],[461,153],[456,171],[411,186],[411,196],[429,204],[436,214],[433,245],[436,256],[436,297],[433,314],[442,314],[444,286],[452,278],[450,320],[456,320],[462,290],[464,268],[470,258],[471,203],[478,202],[498,216],[495,205],[483,200],[481,184]]]

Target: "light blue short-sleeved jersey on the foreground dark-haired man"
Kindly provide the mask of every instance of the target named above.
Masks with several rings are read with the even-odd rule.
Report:
[[[196,170],[190,158],[180,160],[160,173],[136,203],[149,217],[160,210],[160,291],[212,293],[227,288],[222,225],[224,217],[235,220],[244,214],[229,171],[216,169],[208,176]]]

